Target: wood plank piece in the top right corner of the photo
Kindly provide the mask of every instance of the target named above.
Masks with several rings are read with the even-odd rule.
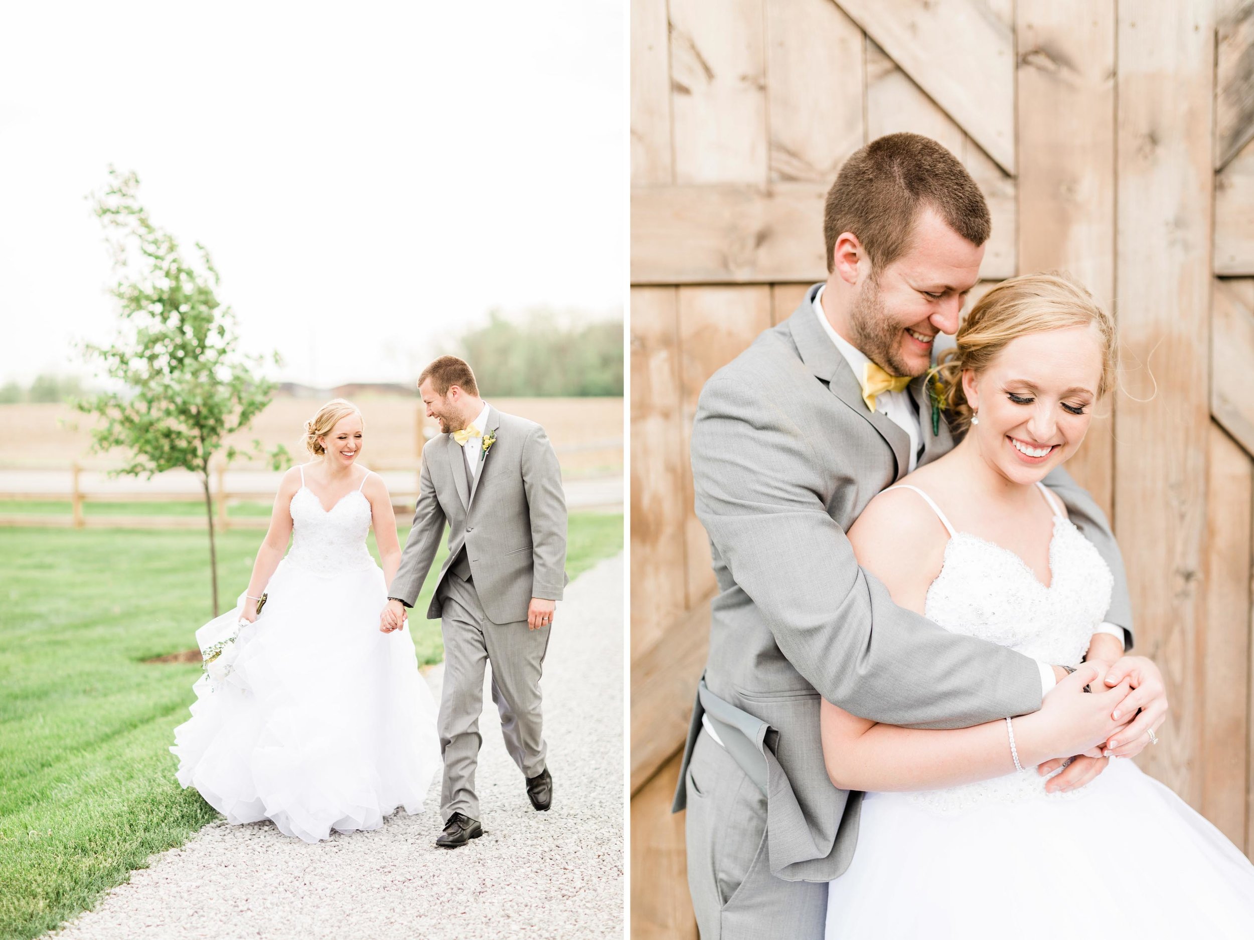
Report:
[[[1215,169],[1254,139],[1254,0],[1220,0],[1215,44]]]

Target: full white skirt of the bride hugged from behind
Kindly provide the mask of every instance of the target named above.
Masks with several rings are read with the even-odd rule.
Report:
[[[1131,761],[1061,797],[958,812],[864,797],[853,862],[829,886],[829,939],[1076,932],[1254,936],[1254,865]]]

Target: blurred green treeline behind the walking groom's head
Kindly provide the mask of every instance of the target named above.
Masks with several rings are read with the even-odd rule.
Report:
[[[569,325],[538,312],[519,323],[493,312],[461,347],[484,396],[623,394],[622,320]]]

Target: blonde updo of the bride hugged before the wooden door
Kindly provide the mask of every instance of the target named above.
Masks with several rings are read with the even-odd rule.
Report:
[[[953,425],[966,430],[973,414],[962,390],[966,370],[982,372],[1021,336],[1076,326],[1097,328],[1102,356],[1097,396],[1101,397],[1115,382],[1115,321],[1087,290],[1066,274],[1050,272],[1012,277],[981,297],[958,327],[958,345],[940,353],[937,366],[942,402],[956,416]]]

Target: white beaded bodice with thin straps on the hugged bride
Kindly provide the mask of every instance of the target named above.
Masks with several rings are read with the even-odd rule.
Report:
[[[1052,498],[1046,499],[1052,508]],[[1009,549],[957,531],[928,588],[924,614],[948,630],[999,643],[1040,662],[1078,666],[1110,607],[1114,583],[1097,549],[1055,509],[1048,587]],[[1022,773],[907,796],[954,812],[987,801],[1040,798],[1047,780],[1028,767]]]

